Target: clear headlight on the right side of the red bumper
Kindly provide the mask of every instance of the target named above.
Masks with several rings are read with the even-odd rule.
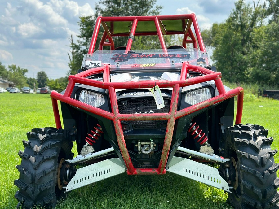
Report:
[[[188,92],[185,96],[185,102],[194,105],[211,97],[212,95],[209,88],[203,88],[196,91]]]

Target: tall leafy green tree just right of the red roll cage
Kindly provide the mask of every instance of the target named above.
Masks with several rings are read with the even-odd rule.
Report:
[[[224,78],[230,82],[251,81],[251,54],[257,49],[253,42],[253,31],[263,25],[263,6],[254,8],[243,0],[235,3],[228,19],[203,32],[206,45],[215,47],[213,59]]]

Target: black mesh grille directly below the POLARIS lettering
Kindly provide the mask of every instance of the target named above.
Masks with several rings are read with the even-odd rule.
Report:
[[[135,114],[136,112],[150,113],[150,111],[152,111],[151,113],[168,113],[170,111],[169,104],[165,104],[164,108],[157,110],[154,98],[127,99],[126,106],[119,105],[118,108],[121,114]]]

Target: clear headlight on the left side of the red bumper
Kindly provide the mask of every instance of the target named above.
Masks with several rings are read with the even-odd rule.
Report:
[[[78,99],[79,101],[89,104],[93,107],[99,107],[105,103],[104,95],[86,90],[81,91]]]

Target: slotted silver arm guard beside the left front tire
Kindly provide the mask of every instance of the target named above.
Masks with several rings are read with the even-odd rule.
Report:
[[[77,189],[124,172],[125,167],[119,158],[111,158],[79,168],[75,176],[67,184],[65,192],[69,192],[73,189]]]

